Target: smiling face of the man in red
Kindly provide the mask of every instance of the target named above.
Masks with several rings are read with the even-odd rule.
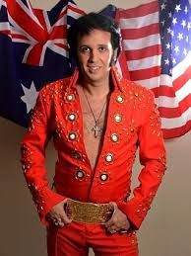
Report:
[[[89,35],[79,37],[77,54],[80,71],[87,82],[108,78],[113,57],[109,32],[93,30]]]

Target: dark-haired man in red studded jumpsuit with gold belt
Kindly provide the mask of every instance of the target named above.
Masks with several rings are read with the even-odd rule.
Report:
[[[165,170],[159,113],[150,90],[119,79],[118,25],[91,13],[69,31],[73,76],[39,93],[22,142],[25,177],[43,223],[49,256],[137,256],[136,229]],[[58,153],[54,190],[48,187],[45,147]],[[130,196],[136,149],[144,166]]]

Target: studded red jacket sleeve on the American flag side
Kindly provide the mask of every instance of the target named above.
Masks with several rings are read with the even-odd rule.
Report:
[[[140,163],[139,186],[128,202],[118,202],[118,208],[125,213],[138,229],[150,210],[165,171],[165,148],[160,130],[159,112],[152,92],[149,93],[146,119],[139,130]]]

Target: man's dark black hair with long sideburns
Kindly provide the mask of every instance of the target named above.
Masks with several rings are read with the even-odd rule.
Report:
[[[68,43],[70,57],[77,57],[77,46],[78,37],[83,37],[89,35],[93,30],[101,30],[109,32],[111,34],[111,45],[112,48],[118,48],[117,57],[121,52],[121,34],[118,24],[108,16],[102,14],[90,13],[85,16],[80,17],[76,22],[70,27],[68,31]]]

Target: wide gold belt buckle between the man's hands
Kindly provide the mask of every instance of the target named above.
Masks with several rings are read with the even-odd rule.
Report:
[[[104,223],[107,221],[114,209],[109,204],[84,203],[74,200],[68,200],[66,204],[66,213],[74,221],[84,223]]]

